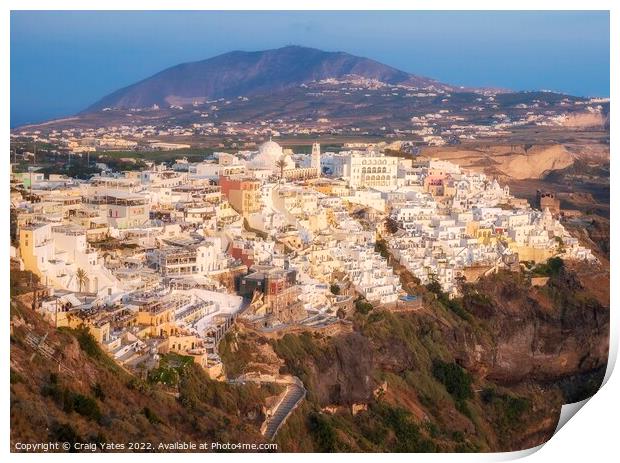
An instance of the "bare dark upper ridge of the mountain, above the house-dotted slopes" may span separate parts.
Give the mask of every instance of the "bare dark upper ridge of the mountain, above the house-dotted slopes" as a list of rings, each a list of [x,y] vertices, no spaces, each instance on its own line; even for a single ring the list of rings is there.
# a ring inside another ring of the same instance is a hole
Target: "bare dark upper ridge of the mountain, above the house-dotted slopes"
[[[233,51],[179,64],[117,90],[87,108],[145,108],[183,105],[216,98],[269,94],[328,78],[356,75],[388,84],[452,87],[377,61],[344,52],[287,46],[266,51]]]

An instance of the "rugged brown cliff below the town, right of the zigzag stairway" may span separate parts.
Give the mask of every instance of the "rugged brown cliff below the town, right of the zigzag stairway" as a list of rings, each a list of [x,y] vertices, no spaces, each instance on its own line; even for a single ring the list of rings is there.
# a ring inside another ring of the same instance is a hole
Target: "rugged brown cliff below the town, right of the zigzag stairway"
[[[277,437],[281,449],[397,451],[408,442],[414,451],[507,451],[544,442],[561,405],[595,393],[604,374],[609,308],[589,289],[591,270],[562,267],[542,287],[499,273],[449,303],[427,293],[418,312],[357,314],[354,333],[270,341],[280,370],[308,389]],[[255,333],[232,340],[248,352],[261,342]],[[269,357],[252,355],[248,368]],[[366,410],[353,415],[354,405]]]

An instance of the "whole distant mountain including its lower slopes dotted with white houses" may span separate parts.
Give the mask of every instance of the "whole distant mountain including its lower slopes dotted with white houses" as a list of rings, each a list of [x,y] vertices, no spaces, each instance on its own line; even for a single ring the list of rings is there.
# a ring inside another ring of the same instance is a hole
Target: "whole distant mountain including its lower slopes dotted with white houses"
[[[422,118],[418,122],[424,125],[429,123],[426,115],[439,114],[430,123],[433,133],[454,139],[455,120],[472,128],[474,136],[479,135],[475,127],[495,126],[498,117],[519,127],[558,120],[571,127],[604,125],[609,103],[592,114],[585,111],[588,101],[544,91],[451,86],[344,52],[287,46],[179,64],[119,89],[79,114],[18,129],[207,124],[215,132],[203,127],[196,134],[211,136],[232,134],[230,127],[218,132],[220,124],[268,121],[272,130],[294,136],[313,131],[393,137],[411,134],[413,117]],[[291,123],[303,127],[292,129]],[[244,130],[235,134],[244,136]]]

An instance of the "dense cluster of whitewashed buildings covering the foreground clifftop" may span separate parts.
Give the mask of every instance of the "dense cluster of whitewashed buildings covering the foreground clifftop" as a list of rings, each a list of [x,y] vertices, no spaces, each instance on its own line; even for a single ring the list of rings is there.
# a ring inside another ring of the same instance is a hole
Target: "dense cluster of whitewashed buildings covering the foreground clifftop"
[[[86,327],[136,372],[174,352],[222,377],[218,342],[238,318],[266,334],[329,331],[358,304],[398,308],[415,295],[395,264],[454,296],[520,262],[595,259],[553,202],[533,209],[484,174],[374,145],[300,154],[269,140],[97,166],[89,180],[12,174],[12,258],[38,277],[33,304],[51,324]]]

